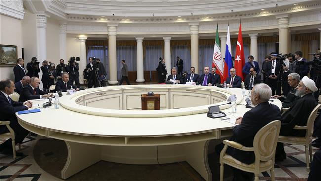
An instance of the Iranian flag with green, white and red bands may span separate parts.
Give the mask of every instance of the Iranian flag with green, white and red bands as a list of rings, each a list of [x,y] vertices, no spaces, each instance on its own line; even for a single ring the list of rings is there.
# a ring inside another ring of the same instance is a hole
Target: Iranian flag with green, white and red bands
[[[225,81],[225,79],[224,79],[224,62],[222,60],[220,39],[218,38],[218,24],[216,25],[216,37],[215,37],[212,67],[216,67],[216,73],[221,76],[221,78],[222,78],[221,81],[222,82]]]

